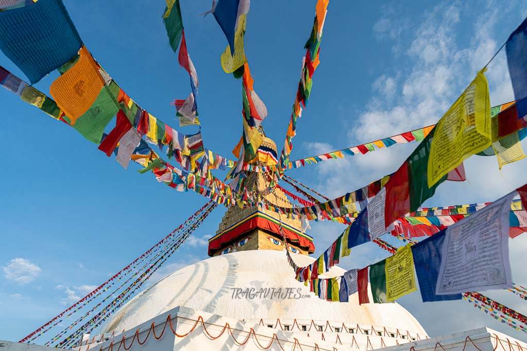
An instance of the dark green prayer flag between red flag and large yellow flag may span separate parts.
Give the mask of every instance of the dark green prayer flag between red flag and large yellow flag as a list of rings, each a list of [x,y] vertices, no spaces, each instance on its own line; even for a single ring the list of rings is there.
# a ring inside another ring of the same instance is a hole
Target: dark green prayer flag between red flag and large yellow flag
[[[428,156],[430,156],[434,131],[435,128],[417,145],[414,152],[407,158],[410,210],[412,212],[421,206],[426,199],[431,198],[437,186],[443,183],[447,177],[445,174],[431,188],[428,187]]]

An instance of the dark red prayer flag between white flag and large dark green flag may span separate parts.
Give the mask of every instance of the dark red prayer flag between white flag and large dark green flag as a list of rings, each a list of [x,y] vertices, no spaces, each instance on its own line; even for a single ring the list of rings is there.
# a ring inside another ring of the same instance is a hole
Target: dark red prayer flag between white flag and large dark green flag
[[[408,185],[408,163],[405,161],[386,183],[386,206],[384,223],[386,228],[410,212],[410,190]]]

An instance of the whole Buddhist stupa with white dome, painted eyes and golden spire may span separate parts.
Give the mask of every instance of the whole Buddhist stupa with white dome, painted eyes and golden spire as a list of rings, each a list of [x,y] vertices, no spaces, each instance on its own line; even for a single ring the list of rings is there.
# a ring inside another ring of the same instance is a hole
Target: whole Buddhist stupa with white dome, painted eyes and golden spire
[[[261,131],[263,134],[263,131]],[[276,144],[264,136],[253,164],[277,163]],[[246,186],[260,192],[268,180],[251,173]],[[266,199],[292,206],[279,188]],[[280,226],[284,234],[280,234]],[[283,242],[287,240],[287,246]],[[121,307],[99,335],[83,335],[77,351],[344,350],[523,351],[527,345],[487,328],[428,338],[397,303],[362,304],[319,299],[295,279],[285,249],[298,265],[315,258],[313,238],[300,220],[261,207],[230,207],[209,240],[212,256],[165,276]],[[340,276],[333,266],[321,278]],[[373,298],[370,296],[370,301]],[[470,343],[469,343],[470,339]],[[51,351],[45,346],[2,342],[7,351]],[[523,349],[522,349],[523,348]]]

